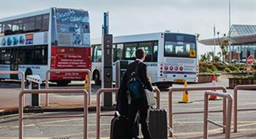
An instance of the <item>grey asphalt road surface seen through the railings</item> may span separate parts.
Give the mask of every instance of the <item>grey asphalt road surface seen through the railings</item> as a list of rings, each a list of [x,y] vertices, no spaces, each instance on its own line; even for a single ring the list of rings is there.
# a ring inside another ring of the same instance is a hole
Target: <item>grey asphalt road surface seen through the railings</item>
[[[13,85],[13,84],[10,84]],[[189,87],[209,86],[208,84],[188,84]],[[217,85],[227,86],[227,79],[217,82]],[[175,87],[182,86],[174,84]],[[95,100],[95,91],[100,88],[93,86],[92,99]],[[233,90],[228,90],[233,94]],[[69,102],[69,100],[80,103],[81,95],[56,95],[61,101]],[[54,97],[53,97],[54,98]],[[173,111],[203,111],[203,91],[189,92],[189,98],[193,103],[178,103],[182,98],[180,92],[173,94]],[[256,108],[256,94],[252,90],[241,90],[238,93],[238,109]],[[60,101],[58,100],[58,101]],[[161,93],[161,107],[167,110],[167,91]],[[209,110],[220,110],[222,101],[210,101]],[[113,111],[105,111],[105,113],[113,114]],[[44,113],[44,115],[66,115],[66,114],[82,114],[79,111]],[[26,114],[41,115],[41,114]],[[232,133],[232,138],[256,138],[256,111],[239,111],[238,112],[238,133]],[[101,137],[109,138],[110,120],[113,117],[101,118]],[[174,132],[176,138],[202,138],[203,135],[203,114],[180,114],[174,115]],[[209,114],[209,119],[222,123],[221,113]],[[233,124],[232,124],[233,125]],[[224,138],[221,128],[209,124],[210,138]],[[214,135],[214,136],[212,136]],[[89,138],[96,136],[96,114],[95,111],[89,112]],[[18,116],[9,115],[0,117],[0,139],[17,138],[18,137]],[[26,119],[24,121],[24,137],[26,138],[82,138],[83,137],[83,118],[75,119]]]

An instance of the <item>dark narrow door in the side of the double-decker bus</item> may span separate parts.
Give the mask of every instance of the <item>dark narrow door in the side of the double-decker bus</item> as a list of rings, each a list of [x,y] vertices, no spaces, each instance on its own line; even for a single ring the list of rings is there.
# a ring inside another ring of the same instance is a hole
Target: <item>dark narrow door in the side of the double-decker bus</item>
[[[18,71],[18,48],[11,49],[10,71]],[[10,79],[18,79],[18,74],[10,74]]]

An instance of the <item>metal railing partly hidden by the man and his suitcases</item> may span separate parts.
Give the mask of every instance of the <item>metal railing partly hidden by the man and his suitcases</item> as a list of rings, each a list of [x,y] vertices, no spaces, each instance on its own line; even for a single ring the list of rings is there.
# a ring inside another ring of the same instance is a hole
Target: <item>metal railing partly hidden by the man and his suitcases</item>
[[[157,87],[155,87],[155,92],[157,93],[157,108],[160,107],[160,91]],[[97,92],[96,92],[96,95],[97,95],[97,98],[96,98],[96,101],[97,101],[97,106],[96,106],[96,138],[99,139],[100,138],[100,117],[101,116],[114,116],[114,114],[101,114],[100,113],[100,95],[102,93],[112,93],[112,92],[115,92],[117,93],[118,92],[118,88],[102,88],[102,89],[99,89]]]

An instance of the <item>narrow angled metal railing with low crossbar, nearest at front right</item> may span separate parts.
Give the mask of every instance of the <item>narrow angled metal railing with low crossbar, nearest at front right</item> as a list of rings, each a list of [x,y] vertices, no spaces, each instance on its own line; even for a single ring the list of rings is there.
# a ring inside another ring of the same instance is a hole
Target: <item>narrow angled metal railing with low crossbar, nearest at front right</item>
[[[217,122],[213,122],[208,119],[208,95],[217,95],[219,97],[222,97],[223,99],[227,98],[227,116],[226,116],[226,123],[225,124],[219,124]],[[205,98],[204,98],[204,119],[203,119],[203,138],[208,138],[208,122],[214,125],[217,125],[218,127],[225,128],[225,139],[230,138],[230,126],[231,126],[231,116],[232,116],[232,103],[233,103],[233,97],[230,94],[223,93],[223,92],[214,92],[214,91],[206,91],[205,92]]]

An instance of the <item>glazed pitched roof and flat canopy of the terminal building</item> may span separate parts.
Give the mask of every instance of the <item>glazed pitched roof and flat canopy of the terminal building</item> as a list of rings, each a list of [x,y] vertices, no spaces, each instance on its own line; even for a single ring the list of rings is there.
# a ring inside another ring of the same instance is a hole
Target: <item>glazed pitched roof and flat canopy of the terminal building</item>
[[[231,44],[254,44],[256,43],[256,25],[232,25],[230,28]],[[219,45],[222,44],[222,39],[227,37],[221,37],[217,39],[202,39],[200,43],[205,45]]]

